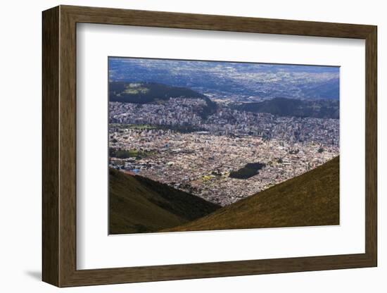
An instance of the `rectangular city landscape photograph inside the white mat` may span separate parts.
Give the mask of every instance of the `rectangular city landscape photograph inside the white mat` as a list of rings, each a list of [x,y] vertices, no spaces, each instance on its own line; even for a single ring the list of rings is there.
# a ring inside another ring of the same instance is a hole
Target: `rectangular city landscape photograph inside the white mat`
[[[339,66],[109,56],[109,234],[339,225],[339,106]]]

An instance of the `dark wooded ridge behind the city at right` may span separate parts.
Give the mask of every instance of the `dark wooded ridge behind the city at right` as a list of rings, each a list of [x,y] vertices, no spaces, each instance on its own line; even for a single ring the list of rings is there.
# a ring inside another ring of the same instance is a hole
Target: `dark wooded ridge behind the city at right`
[[[235,105],[239,111],[271,113],[278,116],[311,118],[339,118],[338,100],[299,100],[274,98],[256,103]]]

